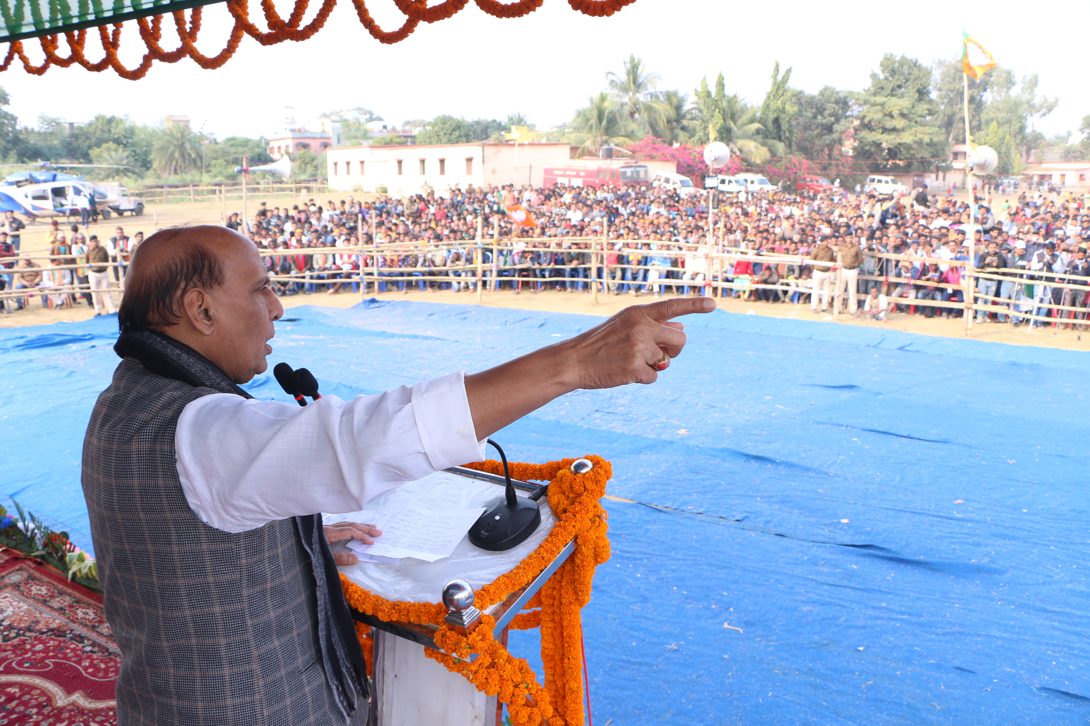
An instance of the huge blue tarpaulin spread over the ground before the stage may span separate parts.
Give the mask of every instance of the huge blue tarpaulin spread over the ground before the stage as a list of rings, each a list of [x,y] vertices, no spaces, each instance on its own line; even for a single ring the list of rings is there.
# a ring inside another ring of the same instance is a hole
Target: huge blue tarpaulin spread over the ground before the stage
[[[270,362],[346,397],[598,320],[292,308]],[[516,460],[600,454],[608,493],[629,500],[606,502],[614,555],[584,611],[597,724],[1090,721],[1087,354],[685,322],[689,346],[655,385],[578,391],[494,436]],[[116,324],[0,331],[3,494],[84,546],[81,446]],[[284,398],[271,374],[246,387]],[[540,667],[533,633],[511,647]]]

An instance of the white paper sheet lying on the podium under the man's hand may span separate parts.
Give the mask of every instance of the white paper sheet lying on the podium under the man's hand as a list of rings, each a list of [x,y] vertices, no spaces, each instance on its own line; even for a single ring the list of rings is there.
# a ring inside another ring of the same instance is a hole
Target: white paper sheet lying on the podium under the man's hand
[[[361,555],[374,557],[415,557],[425,562],[435,562],[450,556],[482,514],[484,514],[484,507],[472,509],[408,508],[387,512],[375,522],[375,527],[383,530],[383,533],[375,538],[374,544],[350,540],[348,547]]]

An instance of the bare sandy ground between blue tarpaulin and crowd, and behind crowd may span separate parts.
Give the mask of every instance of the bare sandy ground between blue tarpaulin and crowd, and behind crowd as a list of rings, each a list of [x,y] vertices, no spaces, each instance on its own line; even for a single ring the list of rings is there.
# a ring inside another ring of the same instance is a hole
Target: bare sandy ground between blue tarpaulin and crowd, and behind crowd
[[[346,196],[344,193],[335,193]],[[313,195],[315,198],[332,196],[328,194]],[[338,196],[338,199],[340,197]],[[257,205],[267,200],[269,207],[284,204],[295,204],[290,197],[254,197],[250,201],[251,209],[256,209]],[[241,211],[241,204],[232,200],[228,212]],[[143,231],[145,235],[152,234],[156,229],[181,223],[208,223],[219,224],[222,212],[221,206],[214,201],[208,202],[183,202],[155,205],[148,208],[143,217],[120,219],[113,218],[109,221],[100,220],[98,224],[90,226],[90,233],[106,238],[113,235],[116,226],[124,227],[125,234],[133,234]],[[62,226],[65,226],[62,223]],[[28,224],[23,233],[22,250],[40,251],[46,247],[46,230],[48,223]],[[71,235],[70,235],[71,236]],[[391,285],[392,286],[392,285]],[[368,297],[372,297],[370,294]],[[476,304],[476,294],[468,292],[410,292],[396,293],[387,292],[378,295],[379,299],[400,299],[428,303],[443,303],[453,305]],[[337,295],[318,293],[314,295],[292,295],[281,298],[286,308],[298,305],[322,305],[327,307],[346,308],[355,305],[362,299],[359,293],[341,292]],[[598,305],[591,303],[588,293],[557,293],[543,291],[536,295],[528,291],[522,294],[514,294],[510,291],[486,292],[482,305],[489,307],[522,308],[528,310],[543,310],[547,312],[576,312],[582,315],[610,316],[629,305],[651,302],[650,295],[639,297],[632,295],[598,295]],[[806,305],[790,305],[787,303],[742,303],[736,299],[717,299],[722,309],[730,312],[747,313],[752,310],[755,315],[771,316],[776,318],[792,318],[799,320],[823,321],[829,317],[828,313],[812,313]],[[86,320],[94,315],[94,310],[81,304],[72,309],[64,310],[43,310],[38,300],[32,302],[29,310],[22,310],[12,315],[0,316],[0,328],[13,328],[20,325],[40,325],[58,321]],[[946,337],[962,337],[964,324],[960,319],[942,320],[933,318],[928,320],[923,316],[894,315],[888,322],[874,322],[851,318],[848,315],[839,316],[839,324],[847,325],[871,325],[887,330],[898,330],[909,333],[920,333],[924,335],[942,335]],[[834,324],[829,322],[828,324]],[[1077,331],[1057,330],[1054,328],[1037,329],[1030,331],[1024,324],[1020,328],[1013,328],[1009,324],[985,323],[973,325],[972,339],[978,341],[989,341],[993,343],[1012,343],[1015,345],[1040,345],[1044,347],[1058,347],[1073,350],[1090,350],[1090,334],[1086,339]]]

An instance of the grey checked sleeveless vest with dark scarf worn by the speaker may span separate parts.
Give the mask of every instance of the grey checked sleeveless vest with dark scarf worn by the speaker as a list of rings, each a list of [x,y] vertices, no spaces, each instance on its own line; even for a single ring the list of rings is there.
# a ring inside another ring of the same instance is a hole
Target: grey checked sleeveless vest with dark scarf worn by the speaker
[[[166,336],[125,334],[116,349],[126,357],[87,427],[83,490],[121,649],[119,724],[341,726],[358,706],[362,716],[362,654],[320,515],[233,534],[197,519],[182,492],[182,409],[249,395]]]

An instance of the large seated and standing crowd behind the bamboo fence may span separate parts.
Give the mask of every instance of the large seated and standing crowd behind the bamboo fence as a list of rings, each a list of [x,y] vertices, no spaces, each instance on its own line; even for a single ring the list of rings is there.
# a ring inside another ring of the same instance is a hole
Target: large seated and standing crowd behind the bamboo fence
[[[657,297],[698,294],[714,282],[724,286],[717,294],[809,305],[814,312],[836,304],[879,320],[895,311],[946,318],[966,313],[950,304],[966,302],[964,263],[971,246],[977,272],[1008,278],[977,279],[976,307],[1001,308],[978,309],[977,322],[1009,317],[1017,325],[1027,315],[1064,324],[1086,319],[1087,291],[1033,274],[1090,276],[1090,213],[1081,197],[1022,193],[994,206],[985,197],[976,225],[967,201],[923,189],[898,198],[839,188],[773,192],[716,202],[710,217],[707,195],[647,186],[456,185],[409,199],[262,202],[252,219],[234,213],[225,223],[263,251],[279,295],[359,292],[360,284],[375,282],[378,292],[472,291],[480,266],[486,288],[516,293],[585,293],[593,284],[603,294]],[[516,206],[529,212],[524,225],[508,212]],[[111,311],[102,263],[116,262],[114,281],[122,283],[142,235],[130,238],[118,227],[100,242],[73,225],[66,238],[56,222],[50,235],[52,255],[71,255],[61,260],[81,267],[51,273],[20,259],[10,284],[49,288],[44,305],[83,297],[96,312]],[[0,256],[10,248],[0,232]],[[80,293],[65,298],[60,291],[73,285],[82,285]],[[15,308],[21,305],[16,300]]]

